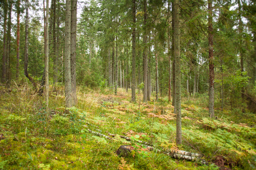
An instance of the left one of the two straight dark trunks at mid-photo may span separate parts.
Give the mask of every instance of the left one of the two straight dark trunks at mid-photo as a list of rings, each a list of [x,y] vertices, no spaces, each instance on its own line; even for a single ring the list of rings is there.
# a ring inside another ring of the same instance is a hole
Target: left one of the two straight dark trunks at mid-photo
[[[136,0],[133,0],[133,61],[132,61],[132,67],[133,67],[133,71],[132,71],[132,82],[131,82],[131,101],[136,101],[136,94],[135,94],[135,83],[136,83],[136,78],[135,78],[135,26],[136,26]]]

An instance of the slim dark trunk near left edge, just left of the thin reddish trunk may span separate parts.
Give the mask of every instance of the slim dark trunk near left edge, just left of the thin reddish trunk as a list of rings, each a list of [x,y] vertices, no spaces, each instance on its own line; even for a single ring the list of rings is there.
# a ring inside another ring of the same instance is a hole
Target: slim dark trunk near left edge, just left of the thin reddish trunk
[[[7,31],[7,50],[6,50],[6,78],[7,78],[7,86],[10,84],[11,80],[11,70],[10,70],[10,54],[11,54],[11,7],[13,3],[9,2],[9,10],[8,10],[8,31]]]

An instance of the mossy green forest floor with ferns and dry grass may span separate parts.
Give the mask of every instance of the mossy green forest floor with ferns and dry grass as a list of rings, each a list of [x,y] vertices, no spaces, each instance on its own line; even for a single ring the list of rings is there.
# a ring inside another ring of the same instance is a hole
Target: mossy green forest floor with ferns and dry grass
[[[51,87],[47,116],[43,96],[34,94],[27,84],[9,89],[0,86],[0,169],[256,167],[253,113],[216,109],[217,120],[210,119],[206,95],[183,97],[183,145],[177,146],[174,107],[167,97],[142,103],[141,93],[134,104],[130,103],[130,92],[122,88],[113,95],[108,90],[79,86],[77,98],[77,106],[65,111],[64,87]],[[160,151],[148,150],[138,140]],[[121,145],[131,145],[134,151],[119,157],[115,151]],[[164,152],[167,149],[203,154],[209,164],[172,158]]]

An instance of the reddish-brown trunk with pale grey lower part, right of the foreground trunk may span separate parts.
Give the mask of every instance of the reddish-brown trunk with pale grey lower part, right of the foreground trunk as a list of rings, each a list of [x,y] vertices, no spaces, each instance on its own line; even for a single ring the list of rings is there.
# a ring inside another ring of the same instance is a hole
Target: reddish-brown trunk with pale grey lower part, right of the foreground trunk
[[[209,116],[214,117],[214,64],[213,64],[213,25],[212,0],[208,0],[208,41],[209,41]]]

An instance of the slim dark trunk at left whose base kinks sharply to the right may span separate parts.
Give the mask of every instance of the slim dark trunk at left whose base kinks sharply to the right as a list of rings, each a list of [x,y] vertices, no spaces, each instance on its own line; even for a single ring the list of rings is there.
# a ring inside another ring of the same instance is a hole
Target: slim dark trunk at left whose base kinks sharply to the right
[[[30,80],[33,87],[36,88],[35,80],[28,74],[28,0],[26,0],[26,21],[25,21],[25,57],[24,57],[24,74]]]

